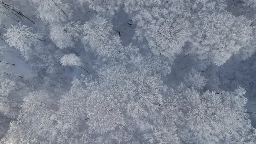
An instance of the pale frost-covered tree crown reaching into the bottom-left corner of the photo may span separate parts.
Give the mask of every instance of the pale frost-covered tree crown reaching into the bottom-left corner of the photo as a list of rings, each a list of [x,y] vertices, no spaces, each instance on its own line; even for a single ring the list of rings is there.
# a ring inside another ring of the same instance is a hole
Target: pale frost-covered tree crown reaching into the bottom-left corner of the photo
[[[3,144],[26,144],[43,142],[49,137],[49,129],[53,123],[52,106],[49,95],[44,92],[30,92],[23,99],[17,121],[10,124],[8,137]],[[48,110],[47,110],[48,109]]]

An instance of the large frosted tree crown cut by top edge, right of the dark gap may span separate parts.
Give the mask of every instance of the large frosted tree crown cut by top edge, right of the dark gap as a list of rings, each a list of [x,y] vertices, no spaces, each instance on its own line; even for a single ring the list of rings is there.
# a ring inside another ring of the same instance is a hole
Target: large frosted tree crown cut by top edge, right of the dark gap
[[[135,11],[135,38],[139,41],[146,39],[154,55],[171,58],[182,52],[190,36],[189,13],[185,11],[183,1],[131,0],[125,4],[126,11]]]

